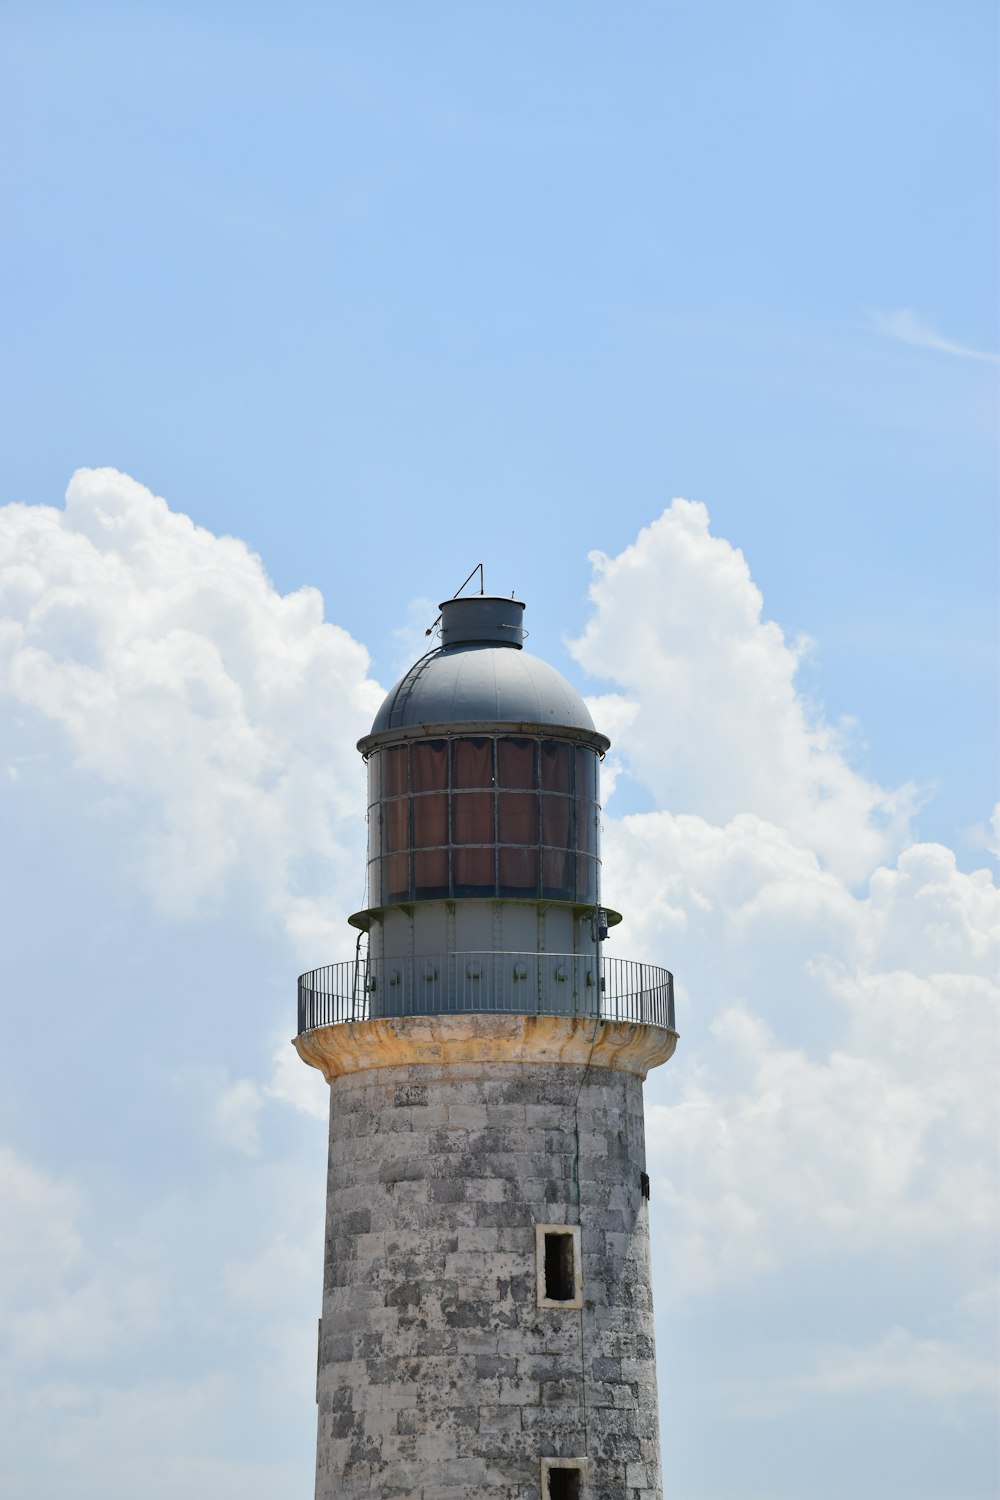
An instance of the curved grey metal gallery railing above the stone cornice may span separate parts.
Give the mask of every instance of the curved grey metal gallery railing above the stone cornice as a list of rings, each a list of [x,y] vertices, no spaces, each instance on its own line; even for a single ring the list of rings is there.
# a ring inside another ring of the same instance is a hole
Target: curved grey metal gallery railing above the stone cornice
[[[448,952],[327,963],[298,980],[298,1032],[385,1016],[597,1016],[673,1024],[673,975],[573,952]]]

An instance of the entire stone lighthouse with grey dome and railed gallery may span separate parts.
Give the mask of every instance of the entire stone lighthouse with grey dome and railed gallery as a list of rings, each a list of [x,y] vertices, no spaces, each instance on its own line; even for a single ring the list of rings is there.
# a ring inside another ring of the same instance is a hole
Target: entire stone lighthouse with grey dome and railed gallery
[[[355,957],[298,980],[330,1084],[316,1500],[661,1500],[642,1084],[673,980],[606,950],[609,741],[523,610],[441,604],[358,742]]]

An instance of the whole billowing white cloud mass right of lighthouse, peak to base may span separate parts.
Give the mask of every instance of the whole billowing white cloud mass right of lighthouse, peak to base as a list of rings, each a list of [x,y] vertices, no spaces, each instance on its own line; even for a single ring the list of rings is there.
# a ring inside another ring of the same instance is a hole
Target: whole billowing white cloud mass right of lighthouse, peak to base
[[[957,1305],[996,1250],[993,876],[913,843],[912,790],[852,766],[798,692],[802,646],[763,620],[705,507],[675,501],[594,564],[573,650],[609,682],[594,711],[657,804],[604,814],[612,951],[678,982],[681,1047],[646,1107],[670,1298],[919,1263],[934,1336],[873,1329],[799,1384],[972,1396],[996,1316]]]

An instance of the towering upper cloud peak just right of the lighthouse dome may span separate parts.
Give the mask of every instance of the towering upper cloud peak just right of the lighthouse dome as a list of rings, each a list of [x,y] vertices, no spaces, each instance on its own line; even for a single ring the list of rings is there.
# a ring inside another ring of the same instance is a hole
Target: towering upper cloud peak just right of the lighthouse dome
[[[805,644],[763,618],[747,560],[711,534],[705,506],[675,500],[633,546],[591,561],[592,615],[571,651],[613,684],[594,712],[625,726],[618,753],[658,807],[717,825],[756,814],[853,880],[901,846],[913,789],[861,776],[810,711]]]

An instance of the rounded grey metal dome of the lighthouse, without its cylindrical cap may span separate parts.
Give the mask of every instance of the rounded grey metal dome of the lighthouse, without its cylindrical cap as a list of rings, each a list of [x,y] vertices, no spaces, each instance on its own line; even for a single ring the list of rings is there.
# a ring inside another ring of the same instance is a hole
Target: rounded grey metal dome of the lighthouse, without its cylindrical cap
[[[547,662],[499,645],[445,646],[411,666],[372,735],[421,724],[540,724],[595,735],[580,694]]]

